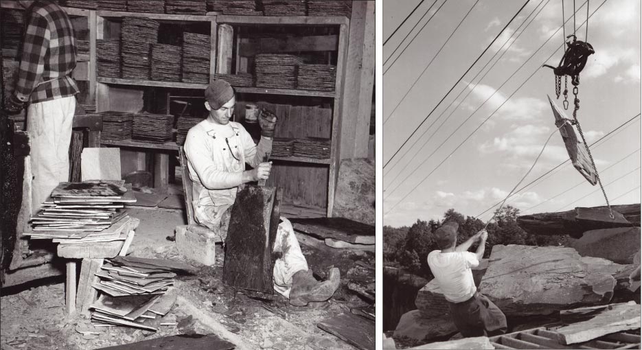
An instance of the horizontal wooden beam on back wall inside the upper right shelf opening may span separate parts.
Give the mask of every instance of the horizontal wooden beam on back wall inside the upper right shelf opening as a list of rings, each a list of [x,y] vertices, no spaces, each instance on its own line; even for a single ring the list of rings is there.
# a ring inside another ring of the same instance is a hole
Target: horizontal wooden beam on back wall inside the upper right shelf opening
[[[247,38],[240,43],[238,54],[240,56],[254,56],[262,52],[336,51],[338,44],[339,38],[336,35]]]

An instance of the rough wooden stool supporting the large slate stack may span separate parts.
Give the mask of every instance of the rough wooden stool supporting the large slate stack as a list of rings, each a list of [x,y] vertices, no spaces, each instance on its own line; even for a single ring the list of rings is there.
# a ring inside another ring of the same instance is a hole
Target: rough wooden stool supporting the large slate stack
[[[65,283],[65,310],[71,315],[77,309],[82,314],[89,314],[89,306],[98,296],[97,290],[92,287],[99,279],[95,275],[102,266],[104,259],[111,259],[117,255],[124,256],[134,239],[134,230],[140,220],[125,218],[109,226],[105,232],[127,233],[124,241],[113,242],[85,242],[76,244],[58,244],[58,256],[71,259],[67,261],[67,281]],[[80,280],[76,288],[76,264],[82,259],[80,266]],[[78,290],[78,293],[76,291]]]

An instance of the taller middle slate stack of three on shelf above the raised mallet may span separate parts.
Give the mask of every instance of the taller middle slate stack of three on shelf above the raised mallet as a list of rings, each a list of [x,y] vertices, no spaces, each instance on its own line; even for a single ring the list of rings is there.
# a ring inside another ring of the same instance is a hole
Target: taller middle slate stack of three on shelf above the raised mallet
[[[256,86],[274,89],[295,89],[297,66],[303,60],[286,54],[257,54],[254,56]]]

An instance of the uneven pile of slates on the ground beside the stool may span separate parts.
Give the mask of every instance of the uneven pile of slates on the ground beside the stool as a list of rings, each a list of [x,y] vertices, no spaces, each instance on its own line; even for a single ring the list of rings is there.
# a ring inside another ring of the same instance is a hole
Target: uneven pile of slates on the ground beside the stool
[[[190,265],[167,259],[115,257],[101,267],[93,287],[102,294],[91,305],[95,326],[122,325],[157,331],[176,302],[176,273],[193,273]]]

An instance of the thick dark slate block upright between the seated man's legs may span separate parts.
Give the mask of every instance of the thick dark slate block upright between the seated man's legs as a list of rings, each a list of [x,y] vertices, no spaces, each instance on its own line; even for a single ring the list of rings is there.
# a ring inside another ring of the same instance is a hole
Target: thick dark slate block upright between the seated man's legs
[[[223,283],[272,294],[275,187],[241,185],[231,209]],[[278,211],[278,206],[277,206]],[[278,218],[278,215],[277,215]],[[271,239],[272,238],[272,239]]]

